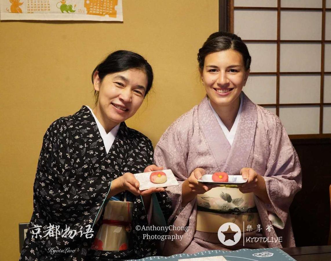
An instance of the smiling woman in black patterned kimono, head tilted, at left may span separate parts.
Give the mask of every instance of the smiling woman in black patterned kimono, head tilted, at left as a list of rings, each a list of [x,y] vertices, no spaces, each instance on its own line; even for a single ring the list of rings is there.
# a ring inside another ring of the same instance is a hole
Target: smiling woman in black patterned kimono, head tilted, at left
[[[95,68],[92,82],[95,108],[82,106],[59,118],[44,135],[22,261],[125,260],[157,252],[156,240],[143,234],[162,231],[139,228],[149,226],[148,216],[166,225],[171,203],[164,188],[138,189],[132,173],[162,168],[152,165],[151,141],[124,123],[151,89],[152,68],[139,54],[116,51]],[[100,249],[95,245],[91,249],[107,201],[130,199],[129,245],[121,251],[93,250]]]

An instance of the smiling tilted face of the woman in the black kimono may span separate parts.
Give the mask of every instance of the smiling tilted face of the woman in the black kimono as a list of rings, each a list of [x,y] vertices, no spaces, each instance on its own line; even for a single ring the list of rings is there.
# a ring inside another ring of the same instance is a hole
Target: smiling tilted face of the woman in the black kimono
[[[139,69],[107,74],[102,81],[95,74],[93,85],[99,97],[93,112],[106,132],[136,113],[147,84],[146,74]]]

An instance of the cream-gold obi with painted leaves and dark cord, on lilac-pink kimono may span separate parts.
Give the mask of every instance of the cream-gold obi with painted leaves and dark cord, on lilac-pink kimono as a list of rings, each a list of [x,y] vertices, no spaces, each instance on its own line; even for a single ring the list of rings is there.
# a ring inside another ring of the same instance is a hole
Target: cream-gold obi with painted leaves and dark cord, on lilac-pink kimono
[[[231,187],[230,187],[231,186]],[[233,185],[212,188],[197,195],[197,231],[217,233],[219,227],[227,222],[240,229],[251,225],[254,229],[261,224],[254,201],[254,193],[241,193]]]

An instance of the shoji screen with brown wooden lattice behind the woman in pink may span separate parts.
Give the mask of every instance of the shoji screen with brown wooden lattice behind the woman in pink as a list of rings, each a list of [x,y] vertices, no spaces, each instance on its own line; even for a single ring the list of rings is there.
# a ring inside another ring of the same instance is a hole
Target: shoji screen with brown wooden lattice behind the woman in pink
[[[291,138],[331,137],[331,0],[231,0],[230,18],[252,56],[248,97]]]

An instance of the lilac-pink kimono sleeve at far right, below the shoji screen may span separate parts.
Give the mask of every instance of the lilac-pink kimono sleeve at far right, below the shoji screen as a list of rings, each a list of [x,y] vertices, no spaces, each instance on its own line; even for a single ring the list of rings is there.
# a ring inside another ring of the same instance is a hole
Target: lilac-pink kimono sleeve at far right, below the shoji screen
[[[266,207],[277,215],[278,222],[273,214],[269,215],[269,219],[274,220],[276,227],[283,229],[293,198],[301,189],[302,176],[298,155],[278,117],[275,118],[269,146],[270,156],[263,178],[271,206],[267,204]]]

